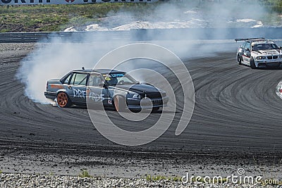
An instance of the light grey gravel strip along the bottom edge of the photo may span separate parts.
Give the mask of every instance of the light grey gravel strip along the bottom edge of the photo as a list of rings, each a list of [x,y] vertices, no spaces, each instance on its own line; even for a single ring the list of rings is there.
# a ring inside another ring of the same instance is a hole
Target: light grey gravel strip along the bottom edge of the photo
[[[193,183],[185,184],[180,181],[156,180],[148,181],[145,179],[124,179],[108,177],[73,177],[60,175],[27,175],[27,174],[1,174],[1,187],[279,187],[279,186],[262,186],[258,184],[205,184]],[[282,187],[282,186],[280,186]]]

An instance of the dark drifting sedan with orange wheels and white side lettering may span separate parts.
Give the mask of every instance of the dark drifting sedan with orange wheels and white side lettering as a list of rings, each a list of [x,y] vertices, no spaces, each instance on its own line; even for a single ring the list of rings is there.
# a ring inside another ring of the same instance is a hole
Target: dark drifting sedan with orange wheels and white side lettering
[[[163,90],[137,82],[125,72],[108,69],[82,68],[71,71],[61,79],[48,80],[44,95],[56,101],[61,108],[73,104],[87,105],[87,99],[94,104],[102,102],[104,107],[114,107],[116,111],[124,111],[125,108],[157,111],[168,103],[168,96]],[[141,105],[141,101],[145,103]]]

